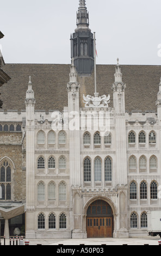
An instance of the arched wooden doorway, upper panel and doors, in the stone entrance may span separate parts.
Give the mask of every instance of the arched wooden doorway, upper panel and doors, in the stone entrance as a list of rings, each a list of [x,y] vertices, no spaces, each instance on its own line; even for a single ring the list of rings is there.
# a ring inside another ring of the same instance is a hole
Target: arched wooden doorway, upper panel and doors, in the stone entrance
[[[92,202],[86,212],[87,237],[113,237],[113,210],[104,200]]]

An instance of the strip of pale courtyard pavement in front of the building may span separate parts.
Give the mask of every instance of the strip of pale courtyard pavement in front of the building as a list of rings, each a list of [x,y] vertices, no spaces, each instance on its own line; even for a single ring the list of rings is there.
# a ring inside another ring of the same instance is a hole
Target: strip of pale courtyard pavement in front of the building
[[[26,241],[27,239],[23,239]],[[77,246],[77,245],[87,245],[87,246],[100,246],[100,245],[159,245],[159,236],[156,237],[144,237],[144,238],[128,238],[128,239],[115,239],[115,238],[88,238],[88,239],[30,239],[29,245],[64,245],[64,246]],[[4,245],[4,240],[1,239],[2,245]],[[9,245],[10,240],[5,240],[5,245]],[[13,245],[13,239],[11,240],[11,245]],[[16,239],[14,241],[16,245]],[[18,243],[19,245],[19,243]]]

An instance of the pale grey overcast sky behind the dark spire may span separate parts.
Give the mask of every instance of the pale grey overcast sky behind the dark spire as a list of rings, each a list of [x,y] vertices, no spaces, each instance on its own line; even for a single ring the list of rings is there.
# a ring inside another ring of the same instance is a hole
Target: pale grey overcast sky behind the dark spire
[[[79,0],[0,1],[5,63],[70,63]],[[120,64],[161,65],[160,0],[86,0],[86,7],[97,64],[119,57]]]

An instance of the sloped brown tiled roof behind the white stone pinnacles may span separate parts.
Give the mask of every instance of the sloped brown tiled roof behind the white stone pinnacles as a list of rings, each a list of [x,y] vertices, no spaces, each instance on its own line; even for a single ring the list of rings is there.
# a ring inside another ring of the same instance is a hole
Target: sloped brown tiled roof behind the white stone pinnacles
[[[66,64],[6,64],[4,71],[11,80],[1,89],[3,109],[23,110],[29,81],[32,76],[35,110],[59,110],[67,106],[66,84],[70,65]],[[122,81],[126,83],[126,111],[156,111],[161,66],[122,65]],[[109,107],[113,107],[115,65],[97,65],[97,92],[110,94]],[[94,72],[91,76],[77,77],[80,83],[80,107],[84,107],[83,94],[94,95]]]

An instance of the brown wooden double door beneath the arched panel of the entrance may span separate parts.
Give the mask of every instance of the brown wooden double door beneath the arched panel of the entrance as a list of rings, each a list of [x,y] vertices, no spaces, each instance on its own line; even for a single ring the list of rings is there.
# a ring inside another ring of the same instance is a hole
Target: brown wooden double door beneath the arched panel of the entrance
[[[112,217],[87,217],[86,218],[87,237],[112,237],[113,220]]]

